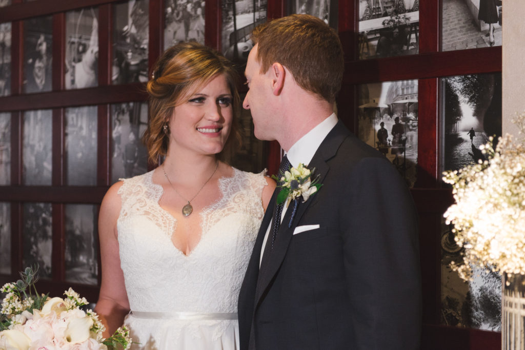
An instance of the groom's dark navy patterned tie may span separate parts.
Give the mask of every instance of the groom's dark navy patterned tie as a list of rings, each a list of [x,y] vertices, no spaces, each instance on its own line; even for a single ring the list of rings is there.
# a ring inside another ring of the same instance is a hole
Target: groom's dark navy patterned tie
[[[281,176],[285,174],[286,171],[290,170],[290,167],[291,167],[291,164],[288,161],[288,158],[286,157],[286,155],[283,156],[281,160],[281,165],[279,165],[279,173],[277,174],[279,177],[277,186],[281,186],[283,184],[283,182],[280,181],[280,178]],[[279,188],[277,188],[276,190],[277,190],[277,193],[280,192]],[[257,306],[257,299],[259,299],[259,295],[261,292],[260,289],[262,287],[262,281],[265,278],[266,268],[268,267],[268,262],[270,261],[271,250],[274,249],[275,238],[277,237],[277,231],[279,230],[279,225],[281,224],[281,214],[282,214],[283,207],[284,207],[284,203],[281,203],[279,205],[276,204],[274,207],[274,215],[272,216],[272,219],[271,219],[271,229],[268,234],[268,238],[266,239],[266,246],[264,247],[264,251],[262,252],[261,266],[259,268],[259,277],[257,278],[257,287],[255,289],[255,299],[254,299],[254,314],[255,314],[255,307]],[[254,322],[255,322],[255,319],[252,317],[248,350],[255,350]]]

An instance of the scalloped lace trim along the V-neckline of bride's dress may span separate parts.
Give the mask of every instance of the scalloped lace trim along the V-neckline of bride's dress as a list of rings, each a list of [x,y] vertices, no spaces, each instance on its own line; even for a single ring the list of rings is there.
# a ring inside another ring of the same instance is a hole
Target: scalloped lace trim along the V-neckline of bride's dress
[[[198,240],[197,244],[195,245],[195,247],[193,247],[193,249],[191,249],[187,253],[184,253],[184,251],[182,251],[180,248],[176,247],[173,244],[172,237],[175,234],[175,231],[177,229],[176,228],[177,219],[169,211],[164,209],[159,203],[159,201],[161,200],[162,196],[164,195],[164,187],[161,184],[156,184],[156,183],[153,182],[153,172],[154,172],[154,170],[152,170],[151,172],[146,174],[146,176],[145,176],[146,184],[151,185],[151,187],[155,189],[154,190],[154,194],[156,196],[154,198],[152,198],[153,204],[156,205],[156,207],[158,207],[158,209],[167,218],[167,220],[169,222],[169,225],[167,225],[167,231],[165,232],[166,236],[170,239],[170,243],[173,246],[173,249],[175,249],[183,257],[186,257],[186,258],[192,257],[194,255],[195,251],[199,248],[199,246],[202,245],[201,243],[202,243],[203,239],[207,236],[206,235],[207,230],[205,229],[205,227],[206,227],[205,224],[209,220],[209,216],[211,214],[211,208],[216,207],[216,206],[220,205],[221,203],[224,203],[224,201],[228,199],[228,198],[226,198],[226,188],[228,187],[228,184],[230,182],[232,182],[233,179],[236,178],[238,176],[239,172],[240,172],[238,169],[236,169],[234,167],[232,167],[232,169],[233,169],[233,175],[232,176],[222,176],[222,177],[219,177],[219,179],[217,181],[217,184],[218,184],[218,187],[219,187],[219,191],[220,191],[220,196],[218,197],[218,199],[213,201],[212,203],[208,204],[207,206],[205,206],[201,210],[201,212],[198,213],[199,217],[201,219],[200,222],[199,222],[199,227],[201,228],[201,235],[200,235],[201,237],[199,238],[199,240]]]

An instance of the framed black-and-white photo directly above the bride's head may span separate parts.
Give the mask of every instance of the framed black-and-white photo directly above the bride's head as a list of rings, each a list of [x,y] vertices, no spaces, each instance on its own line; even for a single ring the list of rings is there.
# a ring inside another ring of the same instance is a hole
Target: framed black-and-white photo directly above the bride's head
[[[195,40],[204,45],[203,0],[166,0],[164,50],[181,41]]]

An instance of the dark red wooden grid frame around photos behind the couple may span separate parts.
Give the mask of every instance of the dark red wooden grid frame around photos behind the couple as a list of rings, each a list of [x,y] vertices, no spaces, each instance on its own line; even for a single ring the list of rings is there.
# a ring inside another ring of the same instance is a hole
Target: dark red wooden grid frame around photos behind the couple
[[[68,287],[96,301],[97,287],[64,282],[64,205],[68,203],[100,204],[110,185],[110,110],[111,103],[145,101],[142,84],[111,85],[112,6],[116,0],[37,0],[13,4],[0,10],[0,22],[12,22],[12,96],[0,98],[0,112],[12,114],[11,185],[0,187],[0,201],[11,204],[12,274],[0,275],[0,283],[17,278],[22,268],[23,222],[22,203],[45,201],[53,205],[53,278],[40,281],[39,288],[59,295]],[[339,35],[346,57],[346,69],[338,100],[339,118],[356,130],[356,101],[359,84],[418,79],[418,173],[412,194],[419,211],[421,266],[423,272],[423,346],[424,349],[494,349],[500,347],[495,332],[439,325],[440,313],[440,218],[451,204],[449,189],[440,188],[439,158],[439,80],[446,76],[468,73],[501,72],[501,47],[440,52],[440,0],[420,1],[419,54],[392,58],[358,60],[357,43],[359,1],[339,0]],[[99,86],[81,90],[64,88],[64,39],[53,41],[53,91],[22,94],[23,20],[53,15],[54,38],[65,36],[65,12],[88,6],[99,8]],[[164,2],[150,0],[149,65],[162,53]],[[285,15],[285,0],[268,0],[268,18]],[[207,0],[205,10],[205,43],[220,48],[220,0]],[[103,30],[106,28],[106,30]],[[65,186],[64,183],[64,107],[98,106],[98,171],[97,186]],[[52,186],[22,186],[22,135],[20,122],[25,110],[53,109],[53,177]],[[58,136],[57,136],[58,135]],[[280,147],[269,144],[267,166],[275,173],[280,160]],[[100,273],[99,273],[100,275]]]

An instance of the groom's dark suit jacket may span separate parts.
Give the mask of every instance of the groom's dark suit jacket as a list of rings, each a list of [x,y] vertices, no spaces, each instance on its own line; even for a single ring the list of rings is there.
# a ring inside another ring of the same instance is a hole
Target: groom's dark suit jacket
[[[421,333],[417,215],[383,154],[338,122],[309,168],[319,192],[282,220],[254,313],[272,197],[239,295],[241,349],[415,350]],[[318,229],[293,235],[298,226]]]

